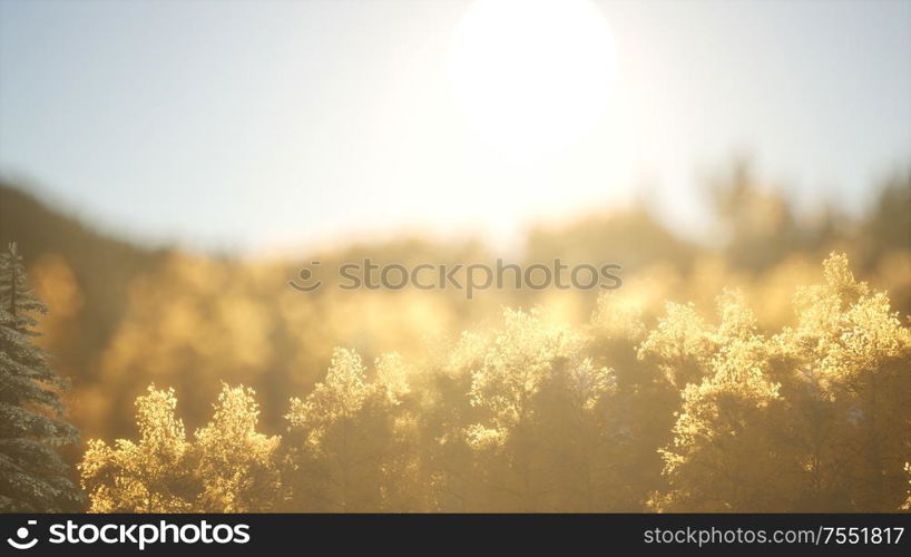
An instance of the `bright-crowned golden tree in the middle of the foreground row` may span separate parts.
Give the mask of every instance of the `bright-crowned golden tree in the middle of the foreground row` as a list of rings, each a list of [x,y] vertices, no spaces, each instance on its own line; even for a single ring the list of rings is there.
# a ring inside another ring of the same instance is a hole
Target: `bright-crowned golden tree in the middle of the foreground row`
[[[582,422],[613,388],[611,371],[585,358],[584,345],[577,332],[547,323],[537,311],[503,312],[502,329],[472,370],[470,402],[484,410],[486,419],[466,430],[469,444],[484,459],[486,481],[498,499],[491,502],[494,509],[537,510],[546,491],[559,489],[554,485],[554,457],[568,438],[545,434],[548,411],[559,404],[567,413],[550,416],[575,420],[571,428],[584,430]],[[585,431],[574,433],[594,442]],[[585,453],[578,458],[584,473],[591,473],[592,460]]]

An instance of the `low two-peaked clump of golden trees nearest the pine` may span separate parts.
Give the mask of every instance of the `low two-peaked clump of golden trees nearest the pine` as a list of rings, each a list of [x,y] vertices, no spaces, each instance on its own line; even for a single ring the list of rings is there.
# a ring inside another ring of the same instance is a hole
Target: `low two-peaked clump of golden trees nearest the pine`
[[[280,489],[278,438],[255,431],[254,392],[223,385],[209,423],[187,439],[173,389],[136,399],[139,440],[89,441],[79,465],[92,512],[266,510]]]

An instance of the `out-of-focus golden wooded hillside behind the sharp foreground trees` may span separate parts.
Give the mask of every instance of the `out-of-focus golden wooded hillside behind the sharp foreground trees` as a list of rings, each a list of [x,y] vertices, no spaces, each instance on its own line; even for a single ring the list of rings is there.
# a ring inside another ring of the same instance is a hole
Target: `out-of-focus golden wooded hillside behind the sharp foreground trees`
[[[529,232],[522,261],[617,263],[624,286],[611,294],[654,320],[664,301],[692,301],[712,311],[726,286],[744,291],[761,324],[792,317],[791,292],[819,273],[832,250],[848,252],[862,277],[911,313],[911,172],[876,186],[860,218],[821,201],[801,215],[780,193],[735,165],[707,185],[723,238],[718,247],[677,237],[647,207],[592,213]],[[209,414],[221,382],[254,387],[266,431],[281,432],[290,394],[308,392],[334,346],[373,359],[411,355],[451,342],[460,331],[500,314],[501,306],[538,305],[545,315],[588,320],[598,292],[488,290],[464,292],[341,291],[340,265],[370,257],[378,264],[492,263],[480,241],[422,238],[364,243],[300,257],[249,260],[150,248],[111,237],[51,208],[12,185],[0,185],[0,242],[17,241],[38,294],[51,313],[42,342],[72,381],[68,405],[86,438],[133,433],[133,400],[149,382],[180,393],[187,424]],[[310,265],[320,261],[319,267]],[[304,294],[287,285],[311,268],[329,286]],[[507,281],[508,283],[508,281]]]

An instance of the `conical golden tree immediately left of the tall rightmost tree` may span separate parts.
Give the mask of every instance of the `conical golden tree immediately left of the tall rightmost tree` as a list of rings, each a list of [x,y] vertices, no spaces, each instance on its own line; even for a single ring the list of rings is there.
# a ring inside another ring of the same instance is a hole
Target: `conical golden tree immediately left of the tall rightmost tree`
[[[708,374],[683,389],[673,442],[662,449],[669,491],[652,500],[658,510],[772,511],[788,492],[786,460],[774,449],[780,385],[770,380],[766,340],[738,294],[721,296],[718,313],[709,334],[717,348],[702,354]]]

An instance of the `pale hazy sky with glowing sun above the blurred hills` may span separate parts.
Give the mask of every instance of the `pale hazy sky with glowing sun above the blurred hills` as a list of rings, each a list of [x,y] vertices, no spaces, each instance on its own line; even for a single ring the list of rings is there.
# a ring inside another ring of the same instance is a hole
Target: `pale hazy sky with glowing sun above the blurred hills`
[[[694,234],[734,155],[848,209],[911,160],[911,2],[528,6],[4,0],[0,173],[105,228],[268,250],[508,243],[646,193]]]

